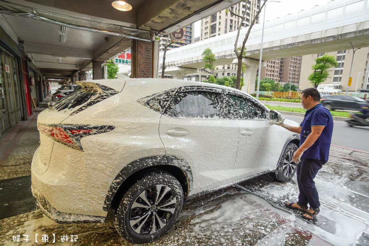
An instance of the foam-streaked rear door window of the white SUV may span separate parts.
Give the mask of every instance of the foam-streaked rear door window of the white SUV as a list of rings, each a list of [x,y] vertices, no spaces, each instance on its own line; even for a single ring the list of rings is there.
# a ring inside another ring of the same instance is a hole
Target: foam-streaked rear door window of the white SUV
[[[170,103],[167,114],[185,118],[222,118],[220,93],[210,91],[184,91]]]

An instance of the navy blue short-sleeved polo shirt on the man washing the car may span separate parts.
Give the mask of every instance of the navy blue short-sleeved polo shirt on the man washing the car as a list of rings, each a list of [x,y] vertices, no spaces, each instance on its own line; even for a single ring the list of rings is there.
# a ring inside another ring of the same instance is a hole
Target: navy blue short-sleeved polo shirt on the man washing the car
[[[319,138],[303,153],[303,157],[315,160],[328,160],[329,149],[333,132],[333,118],[331,112],[323,107],[321,103],[306,110],[304,120],[301,122],[300,146],[311,133],[311,127],[324,125]]]

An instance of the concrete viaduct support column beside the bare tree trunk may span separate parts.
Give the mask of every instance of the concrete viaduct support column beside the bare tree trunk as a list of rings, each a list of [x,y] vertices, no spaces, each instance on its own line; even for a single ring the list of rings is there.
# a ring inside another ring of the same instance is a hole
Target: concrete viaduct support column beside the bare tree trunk
[[[234,59],[232,63],[237,65],[238,60]],[[252,94],[255,91],[256,72],[258,72],[259,69],[259,60],[244,58],[242,59],[242,63],[244,63],[246,67],[246,72],[243,74],[245,85],[242,86],[241,90]],[[266,63],[262,62],[261,66],[265,67]]]

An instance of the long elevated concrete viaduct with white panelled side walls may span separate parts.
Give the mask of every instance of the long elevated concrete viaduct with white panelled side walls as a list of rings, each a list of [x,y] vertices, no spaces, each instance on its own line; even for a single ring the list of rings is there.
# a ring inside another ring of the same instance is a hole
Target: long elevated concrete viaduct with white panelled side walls
[[[241,30],[237,46],[242,44],[247,30]],[[261,32],[262,24],[255,25],[246,42],[243,61],[247,71],[243,76],[246,81],[251,80],[251,88],[255,86],[259,66]],[[206,48],[212,49],[215,65],[237,64],[234,53],[236,36],[237,31],[230,32],[167,51],[165,73],[182,78],[192,73],[192,69],[203,68],[205,63],[201,53]],[[368,0],[336,0],[266,22],[262,60],[351,49],[349,42],[355,48],[369,46]],[[159,61],[162,61],[162,54]],[[243,90],[246,89],[244,87]]]

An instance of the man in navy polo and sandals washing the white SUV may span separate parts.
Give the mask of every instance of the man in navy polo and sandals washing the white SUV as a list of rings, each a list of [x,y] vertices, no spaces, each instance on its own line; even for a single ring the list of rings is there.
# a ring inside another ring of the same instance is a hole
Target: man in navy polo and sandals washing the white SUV
[[[300,126],[290,126],[283,122],[277,124],[300,134],[300,147],[292,157],[293,162],[297,163],[299,201],[286,202],[286,206],[303,212],[303,216],[308,220],[314,219],[320,212],[319,196],[314,178],[328,161],[333,131],[332,115],[319,101],[320,93],[317,89],[303,90],[301,104],[307,111]],[[307,204],[310,205],[309,209]]]

